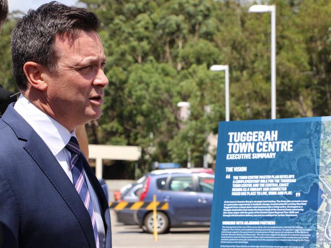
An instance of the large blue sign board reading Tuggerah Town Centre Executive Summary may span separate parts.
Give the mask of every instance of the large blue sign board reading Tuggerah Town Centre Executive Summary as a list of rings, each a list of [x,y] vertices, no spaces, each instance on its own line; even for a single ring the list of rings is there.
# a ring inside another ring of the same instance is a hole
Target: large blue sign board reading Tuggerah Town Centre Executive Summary
[[[331,118],[219,122],[209,248],[331,243]]]

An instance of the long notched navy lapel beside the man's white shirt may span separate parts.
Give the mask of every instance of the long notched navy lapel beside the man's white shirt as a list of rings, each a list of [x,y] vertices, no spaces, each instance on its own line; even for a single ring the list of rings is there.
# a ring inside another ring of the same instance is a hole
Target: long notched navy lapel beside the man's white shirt
[[[81,201],[74,185],[39,135],[12,106],[8,108],[3,115],[3,120],[12,128],[19,139],[26,140],[24,149],[30,154],[76,216],[90,247],[95,247],[89,212]]]

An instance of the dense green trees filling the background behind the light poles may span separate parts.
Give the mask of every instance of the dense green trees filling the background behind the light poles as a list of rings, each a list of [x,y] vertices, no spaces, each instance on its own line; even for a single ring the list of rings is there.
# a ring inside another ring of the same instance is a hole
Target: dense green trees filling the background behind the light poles
[[[214,64],[230,67],[232,120],[270,118],[269,13],[247,13],[248,1],[235,0],[80,2],[102,21],[109,78],[103,116],[89,124],[90,142],[142,146],[144,164],[185,165],[189,151],[201,166],[206,134],[225,119],[224,73],[209,71]],[[277,6],[277,117],[328,115],[331,2],[266,3]],[[11,89],[12,25],[0,39],[0,75]],[[191,105],[185,123],[180,101]]]

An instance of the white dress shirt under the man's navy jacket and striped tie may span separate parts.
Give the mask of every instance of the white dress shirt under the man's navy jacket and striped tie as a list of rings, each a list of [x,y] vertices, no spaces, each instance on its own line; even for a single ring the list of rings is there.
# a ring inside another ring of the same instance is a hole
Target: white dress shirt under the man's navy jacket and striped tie
[[[26,120],[27,123],[29,123],[29,125],[45,142],[49,150],[53,153],[54,157],[58,160],[64,172],[69,177],[70,181],[73,183],[72,173],[69,166],[71,160],[71,153],[65,148],[65,146],[69,142],[71,136],[75,136],[75,132],[72,131],[70,133],[58,121],[39,110],[23,95],[21,95],[15,103],[14,109],[19,115],[23,117],[23,119]],[[91,200],[93,203],[93,209],[99,234],[100,247],[104,247],[105,230],[101,217],[99,201],[87,176],[85,176],[85,180],[88,184]]]

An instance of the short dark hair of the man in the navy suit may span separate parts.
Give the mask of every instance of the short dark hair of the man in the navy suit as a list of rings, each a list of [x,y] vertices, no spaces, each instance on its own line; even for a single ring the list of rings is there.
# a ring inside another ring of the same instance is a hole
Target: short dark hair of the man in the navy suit
[[[13,77],[17,86],[26,89],[23,66],[27,61],[56,71],[58,55],[54,40],[58,36],[73,39],[80,30],[97,32],[99,27],[99,18],[93,12],[55,1],[29,10],[16,22],[12,32]]]

